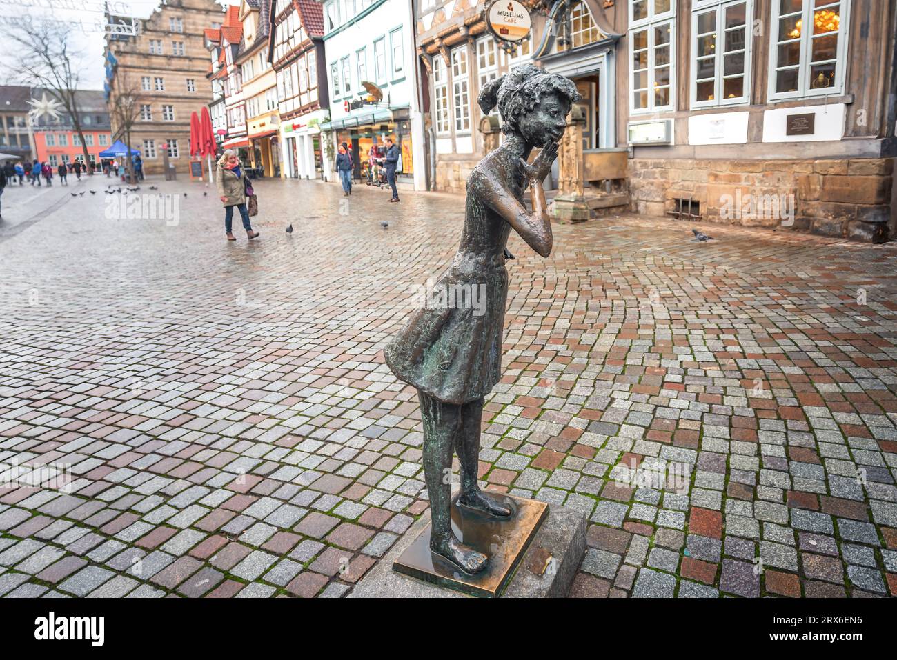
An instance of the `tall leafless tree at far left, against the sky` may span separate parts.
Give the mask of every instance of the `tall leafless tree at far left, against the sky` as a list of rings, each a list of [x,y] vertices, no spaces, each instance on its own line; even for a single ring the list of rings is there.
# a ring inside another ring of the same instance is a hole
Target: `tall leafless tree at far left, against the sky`
[[[5,63],[7,71],[18,71],[15,75],[22,83],[41,87],[62,104],[72,120],[74,132],[78,134],[83,149],[84,166],[88,167],[91,156],[81,126],[78,105],[79,72],[83,69],[83,56],[73,52],[69,44],[69,30],[65,23],[43,21],[24,16],[14,22],[4,23],[0,39],[5,40],[5,48],[14,53],[14,62]]]

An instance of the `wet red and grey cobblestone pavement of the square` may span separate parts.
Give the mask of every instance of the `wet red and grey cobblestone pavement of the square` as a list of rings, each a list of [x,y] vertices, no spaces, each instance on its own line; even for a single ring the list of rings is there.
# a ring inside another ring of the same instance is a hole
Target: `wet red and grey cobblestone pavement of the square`
[[[381,350],[460,198],[262,182],[248,244],[105,185],[4,195],[0,462],[71,484],[0,491],[0,595],[347,594],[427,508]],[[573,595],[893,595],[897,247],[691,228],[512,240],[483,482],[588,515]]]

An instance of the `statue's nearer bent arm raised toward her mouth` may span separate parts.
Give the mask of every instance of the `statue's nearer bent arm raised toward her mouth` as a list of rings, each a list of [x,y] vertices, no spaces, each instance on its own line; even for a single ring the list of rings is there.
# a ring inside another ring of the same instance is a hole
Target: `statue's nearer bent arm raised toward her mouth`
[[[539,256],[549,256],[552,253],[552,225],[546,212],[545,191],[542,181],[535,177],[529,178],[530,195],[533,202],[533,212],[520,204],[514,195],[511,195],[507,187],[501,184],[497,177],[476,172],[475,187],[478,189],[483,203],[492,208],[492,211],[501,215],[511,227],[527,241],[527,245],[536,250]]]

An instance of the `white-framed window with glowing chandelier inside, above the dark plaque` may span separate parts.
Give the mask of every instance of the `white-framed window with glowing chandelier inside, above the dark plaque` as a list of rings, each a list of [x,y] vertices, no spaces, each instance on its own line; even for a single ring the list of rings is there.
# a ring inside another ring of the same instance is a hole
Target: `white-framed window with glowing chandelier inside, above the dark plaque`
[[[849,9],[849,0],[772,3],[769,100],[844,93]]]

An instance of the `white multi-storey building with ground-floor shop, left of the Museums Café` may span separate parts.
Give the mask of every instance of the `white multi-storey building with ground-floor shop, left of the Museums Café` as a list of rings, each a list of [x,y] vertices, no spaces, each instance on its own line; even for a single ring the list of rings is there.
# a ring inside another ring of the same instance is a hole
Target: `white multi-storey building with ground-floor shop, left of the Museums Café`
[[[407,0],[361,0],[324,4],[324,43],[330,93],[330,121],[321,129],[332,145],[348,143],[353,150],[355,178],[365,176],[370,153],[382,154],[391,137],[399,145],[398,181],[426,189],[423,117],[418,97],[414,22]],[[369,97],[361,83],[372,83],[381,99]],[[325,172],[333,172],[332,153],[321,150]]]

